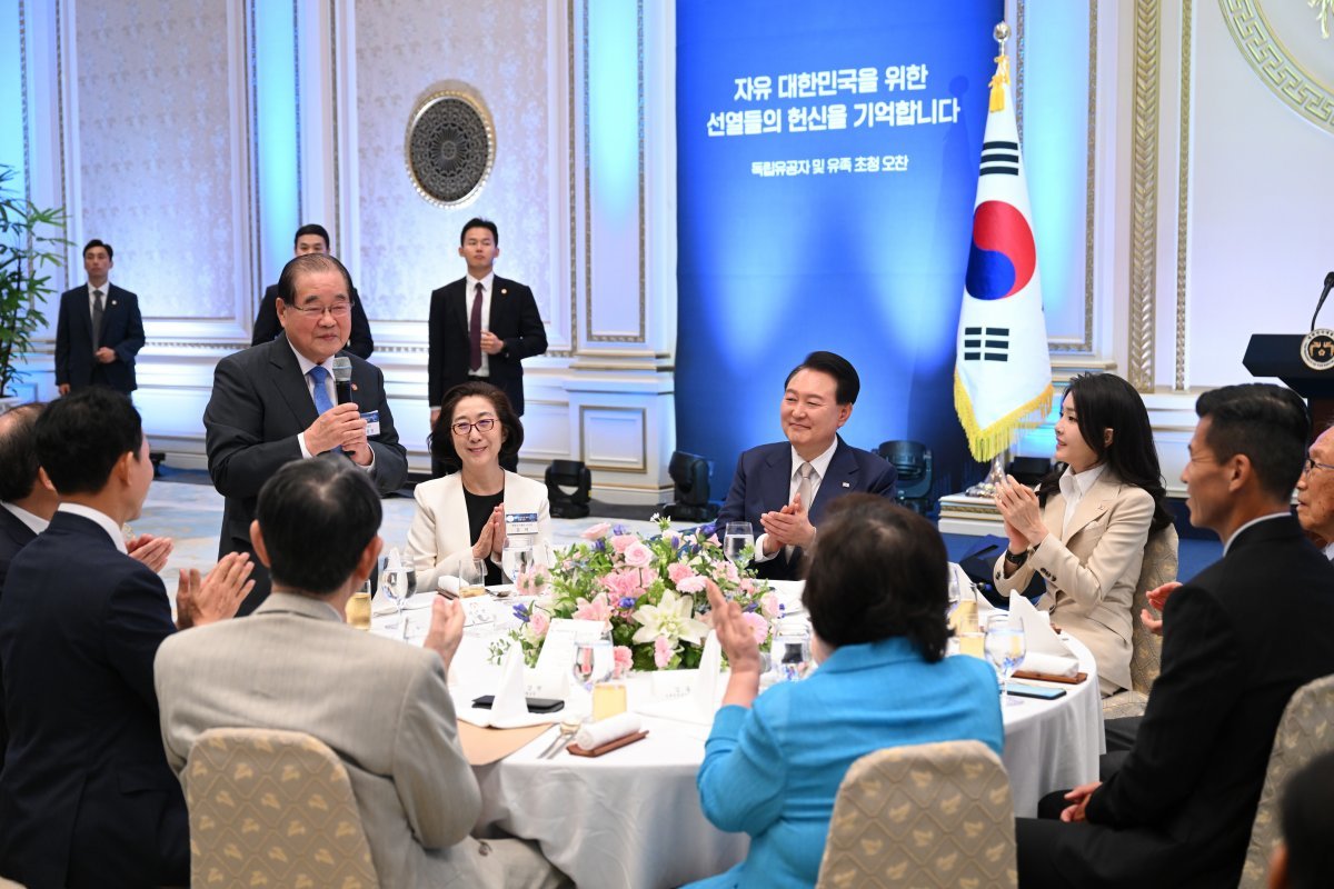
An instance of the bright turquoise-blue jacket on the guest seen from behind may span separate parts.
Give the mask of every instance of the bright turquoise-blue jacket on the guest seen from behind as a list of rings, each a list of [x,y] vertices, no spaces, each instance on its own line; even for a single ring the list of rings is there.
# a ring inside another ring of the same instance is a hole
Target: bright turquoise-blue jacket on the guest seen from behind
[[[975,657],[928,664],[906,638],[844,645],[751,709],[724,706],[696,784],[704,816],[751,836],[746,861],[708,886],[814,886],[848,766],[887,746],[1005,744],[995,672]]]

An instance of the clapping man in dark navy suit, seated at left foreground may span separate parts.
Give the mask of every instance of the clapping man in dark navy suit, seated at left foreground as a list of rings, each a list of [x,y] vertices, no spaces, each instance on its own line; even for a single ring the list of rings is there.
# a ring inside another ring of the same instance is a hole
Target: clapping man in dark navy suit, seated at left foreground
[[[15,556],[0,600],[0,874],[35,889],[184,884],[185,801],[152,680],[171,604],[121,536],[153,477],[148,440],[129,399],[103,387],[47,405],[35,433],[61,502]],[[236,556],[204,584],[183,576],[181,624],[233,614],[245,574]]]

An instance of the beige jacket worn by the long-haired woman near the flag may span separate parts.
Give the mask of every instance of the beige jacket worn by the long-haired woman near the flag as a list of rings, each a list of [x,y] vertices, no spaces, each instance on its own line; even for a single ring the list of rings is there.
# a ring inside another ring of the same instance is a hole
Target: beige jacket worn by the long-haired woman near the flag
[[[1121,481],[1111,469],[1083,496],[1061,529],[1066,498],[1054,490],[1042,509],[1046,540],[1030,550],[1010,577],[1005,553],[996,560],[996,589],[1009,596],[1022,590],[1038,572],[1047,592],[1038,608],[1083,642],[1098,664],[1102,693],[1130,688],[1131,601],[1154,517],[1154,498],[1143,488]]]

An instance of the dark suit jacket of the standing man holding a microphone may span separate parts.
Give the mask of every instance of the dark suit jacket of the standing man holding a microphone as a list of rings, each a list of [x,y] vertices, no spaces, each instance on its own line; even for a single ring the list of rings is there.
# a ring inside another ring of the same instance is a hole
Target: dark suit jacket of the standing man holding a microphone
[[[352,361],[352,399],[362,413],[380,412],[380,435],[370,439],[375,453],[371,480],[380,493],[398,490],[408,476],[408,456],[394,429],[394,415],[384,397],[384,375],[358,356]],[[287,335],[229,355],[213,371],[213,395],[204,409],[208,474],[217,493],[227,497],[219,557],[255,550],[249,525],[255,518],[259,489],[285,462],[301,458],[296,436],[319,413],[301,376]],[[255,589],[241,602],[249,614],[268,596],[269,578],[255,558]]]

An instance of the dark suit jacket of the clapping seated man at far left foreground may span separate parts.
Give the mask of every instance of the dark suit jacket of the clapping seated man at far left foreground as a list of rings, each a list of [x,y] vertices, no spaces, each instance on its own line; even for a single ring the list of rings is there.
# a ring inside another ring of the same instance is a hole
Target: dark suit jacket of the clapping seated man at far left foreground
[[[15,556],[0,600],[0,874],[39,889],[189,881],[153,692],[173,630],[161,580],[89,518],[57,512]]]

